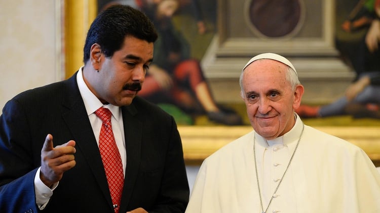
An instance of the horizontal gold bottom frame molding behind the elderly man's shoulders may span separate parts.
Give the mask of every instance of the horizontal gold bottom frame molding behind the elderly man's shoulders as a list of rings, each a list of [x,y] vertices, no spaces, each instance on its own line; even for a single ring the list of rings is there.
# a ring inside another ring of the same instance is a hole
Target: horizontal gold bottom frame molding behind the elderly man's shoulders
[[[345,139],[364,150],[380,166],[380,127],[319,126],[318,130]],[[210,154],[252,131],[251,126],[178,126],[187,165],[200,165]],[[323,156],[321,156],[323,157]]]

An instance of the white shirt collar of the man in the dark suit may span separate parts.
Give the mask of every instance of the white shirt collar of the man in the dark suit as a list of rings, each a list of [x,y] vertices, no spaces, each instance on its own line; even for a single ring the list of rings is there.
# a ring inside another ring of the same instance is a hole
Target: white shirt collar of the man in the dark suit
[[[119,115],[120,115],[120,108],[110,103],[103,104],[95,96],[95,94],[91,92],[91,90],[86,85],[85,80],[83,79],[83,68],[84,66],[82,66],[78,71],[77,83],[78,83],[79,91],[81,92],[83,102],[85,103],[87,116],[90,116],[91,114],[93,114],[97,109],[104,107],[104,108],[108,108],[109,111],[111,111],[113,117],[115,117],[116,120],[118,120]]]

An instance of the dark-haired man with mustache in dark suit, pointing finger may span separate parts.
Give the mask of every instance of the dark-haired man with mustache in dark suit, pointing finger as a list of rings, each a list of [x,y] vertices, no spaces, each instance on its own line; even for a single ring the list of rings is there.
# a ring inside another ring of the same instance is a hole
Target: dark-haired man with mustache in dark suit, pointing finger
[[[156,39],[141,12],[112,6],[90,27],[84,67],[6,103],[0,117],[0,212],[184,211],[189,189],[176,123],[136,96]],[[111,196],[109,163],[99,151],[99,108],[112,114],[124,174],[119,202]]]

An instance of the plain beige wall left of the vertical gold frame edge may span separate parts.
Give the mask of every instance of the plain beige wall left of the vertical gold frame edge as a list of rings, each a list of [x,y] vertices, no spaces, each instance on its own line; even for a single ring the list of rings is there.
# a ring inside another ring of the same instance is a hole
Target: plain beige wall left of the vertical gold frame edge
[[[62,79],[59,2],[0,0],[0,109],[19,92]]]

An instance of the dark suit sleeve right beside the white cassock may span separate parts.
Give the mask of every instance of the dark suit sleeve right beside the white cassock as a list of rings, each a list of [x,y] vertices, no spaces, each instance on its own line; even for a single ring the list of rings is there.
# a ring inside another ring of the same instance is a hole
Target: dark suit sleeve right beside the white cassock
[[[188,202],[189,187],[183,159],[182,143],[173,118],[171,127],[171,137],[166,155],[161,193],[157,205],[148,210],[150,213],[184,212]]]

